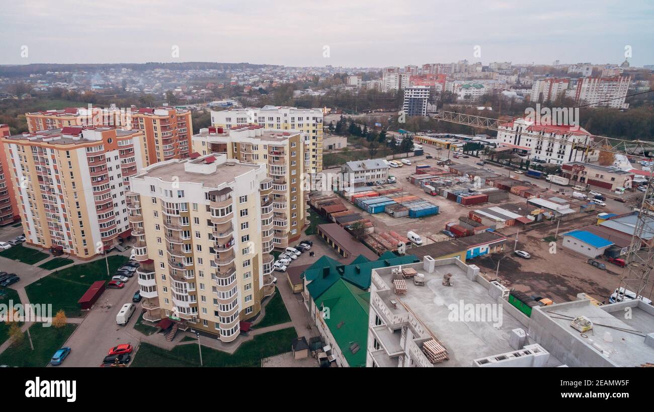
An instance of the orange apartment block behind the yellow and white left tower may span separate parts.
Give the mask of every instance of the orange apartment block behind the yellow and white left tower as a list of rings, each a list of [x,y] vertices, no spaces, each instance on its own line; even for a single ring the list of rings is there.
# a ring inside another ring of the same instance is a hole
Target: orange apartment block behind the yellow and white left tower
[[[188,157],[193,133],[191,112],[173,107],[69,107],[25,114],[30,133],[69,126],[120,126],[143,131],[145,164]]]

